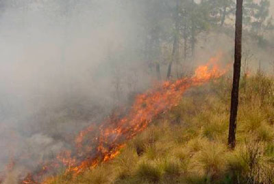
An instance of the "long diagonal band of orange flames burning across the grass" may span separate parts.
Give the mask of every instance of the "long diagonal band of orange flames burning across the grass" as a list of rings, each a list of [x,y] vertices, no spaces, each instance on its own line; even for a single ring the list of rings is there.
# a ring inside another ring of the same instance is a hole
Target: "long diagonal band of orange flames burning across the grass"
[[[125,140],[142,132],[159,114],[177,106],[187,89],[223,76],[228,67],[221,69],[221,57],[219,54],[212,57],[206,65],[197,67],[195,75],[190,78],[166,81],[146,93],[137,95],[132,108],[125,116],[120,118],[119,114],[113,114],[101,123],[99,130],[91,125],[79,132],[75,138],[76,156],[72,156],[71,151],[64,151],[58,155],[58,162],[66,166],[67,173],[79,174],[88,168],[95,168],[101,162],[113,159],[125,147]],[[44,166],[41,172],[47,172],[55,166],[59,166],[56,161]],[[35,176],[28,174],[22,183],[38,183],[42,177],[41,172]]]

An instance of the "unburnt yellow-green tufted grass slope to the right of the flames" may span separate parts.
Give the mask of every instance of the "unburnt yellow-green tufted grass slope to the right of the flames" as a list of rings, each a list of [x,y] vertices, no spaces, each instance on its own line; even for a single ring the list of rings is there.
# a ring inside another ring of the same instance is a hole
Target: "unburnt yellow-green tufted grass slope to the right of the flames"
[[[273,78],[242,78],[235,151],[227,150],[230,81],[188,91],[112,161],[45,183],[273,183]]]

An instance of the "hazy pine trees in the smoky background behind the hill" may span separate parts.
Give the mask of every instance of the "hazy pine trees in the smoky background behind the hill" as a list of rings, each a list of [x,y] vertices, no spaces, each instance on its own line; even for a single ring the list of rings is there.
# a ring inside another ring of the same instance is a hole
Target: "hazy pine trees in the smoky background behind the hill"
[[[141,0],[131,4],[136,8],[134,16],[142,17],[142,55],[159,80],[182,77],[174,65],[191,61],[200,33],[234,32],[234,0]],[[274,29],[269,7],[269,0],[243,2],[243,29],[258,46],[267,44],[264,33]],[[164,76],[160,74],[162,66],[167,70]]]

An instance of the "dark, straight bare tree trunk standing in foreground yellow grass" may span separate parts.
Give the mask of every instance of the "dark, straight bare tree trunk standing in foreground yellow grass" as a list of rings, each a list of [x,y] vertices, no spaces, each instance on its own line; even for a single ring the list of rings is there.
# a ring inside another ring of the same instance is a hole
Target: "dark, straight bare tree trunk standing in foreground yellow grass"
[[[230,149],[234,149],[236,145],[236,118],[238,112],[240,63],[242,59],[242,1],[243,0],[237,0],[236,5],[235,58],[228,136]]]

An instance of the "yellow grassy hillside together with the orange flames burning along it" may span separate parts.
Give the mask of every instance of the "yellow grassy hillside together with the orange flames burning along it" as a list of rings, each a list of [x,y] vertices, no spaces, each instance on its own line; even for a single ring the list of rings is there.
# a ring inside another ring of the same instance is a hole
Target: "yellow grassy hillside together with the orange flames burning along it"
[[[223,76],[227,69],[218,69],[219,57],[198,67],[191,78],[164,82],[138,95],[127,113],[112,114],[99,131],[92,126],[84,129],[75,138],[75,153],[64,151],[43,167],[60,170],[56,163],[61,162],[66,166],[63,174],[47,179],[29,175],[23,183],[274,181],[273,80],[261,73],[245,78],[240,89],[238,144],[236,151],[229,152],[231,79]],[[262,83],[267,84],[264,89],[260,89]],[[247,142],[260,147],[257,155]],[[247,156],[252,154],[260,162]]]

